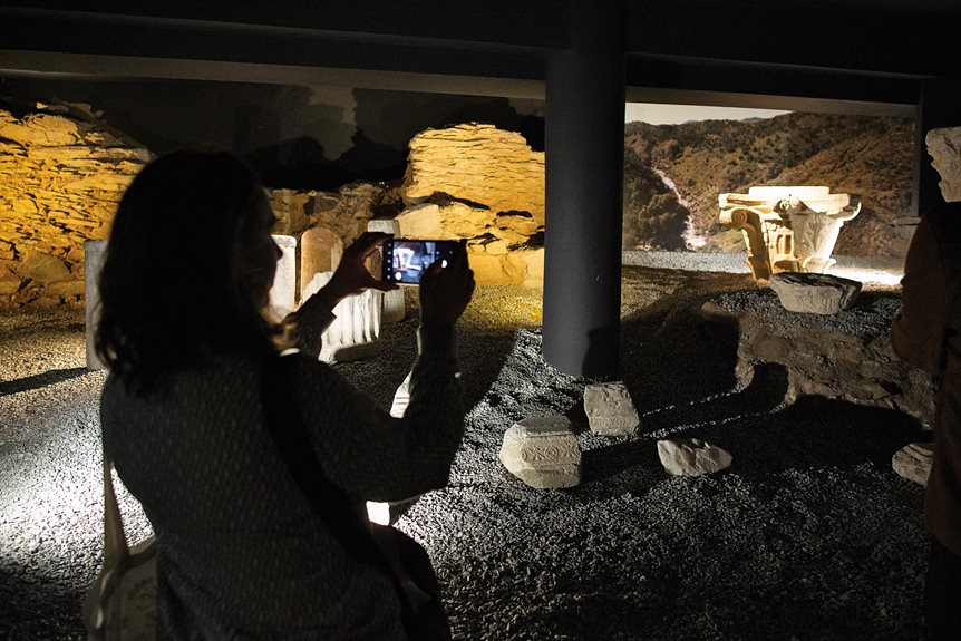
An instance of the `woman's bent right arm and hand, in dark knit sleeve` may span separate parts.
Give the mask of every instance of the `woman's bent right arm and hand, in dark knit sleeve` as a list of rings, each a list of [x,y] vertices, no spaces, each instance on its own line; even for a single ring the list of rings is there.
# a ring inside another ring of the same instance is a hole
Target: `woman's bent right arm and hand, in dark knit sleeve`
[[[474,291],[462,244],[420,284],[410,404],[392,418],[323,363],[300,359],[297,394],[328,477],[357,498],[399,501],[443,487],[464,434],[455,323]]]

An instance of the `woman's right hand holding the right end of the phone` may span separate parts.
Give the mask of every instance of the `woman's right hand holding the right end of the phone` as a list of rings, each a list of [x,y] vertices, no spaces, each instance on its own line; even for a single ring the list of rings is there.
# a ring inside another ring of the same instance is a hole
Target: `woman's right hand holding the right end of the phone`
[[[454,324],[474,295],[467,242],[460,241],[448,265],[433,263],[420,276],[420,324]]]

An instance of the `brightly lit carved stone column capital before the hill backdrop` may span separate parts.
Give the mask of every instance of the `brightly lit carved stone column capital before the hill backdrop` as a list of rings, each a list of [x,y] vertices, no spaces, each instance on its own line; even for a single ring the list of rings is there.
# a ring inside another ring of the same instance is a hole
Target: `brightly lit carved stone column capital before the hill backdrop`
[[[750,187],[718,204],[720,223],[744,232],[751,274],[764,283],[779,272],[827,272],[841,227],[861,211],[858,196],[822,186]]]

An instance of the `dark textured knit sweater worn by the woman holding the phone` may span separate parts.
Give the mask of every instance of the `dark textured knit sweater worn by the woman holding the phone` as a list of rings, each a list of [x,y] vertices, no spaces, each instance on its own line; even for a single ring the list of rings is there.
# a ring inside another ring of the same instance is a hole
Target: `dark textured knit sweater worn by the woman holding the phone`
[[[421,328],[418,342],[401,419],[316,355],[289,357],[323,469],[358,501],[447,483],[464,430],[454,329]],[[276,450],[260,373],[259,359],[224,353],[145,395],[116,375],[104,388],[105,449],[157,536],[158,638],[404,639],[389,579],[340,548]]]

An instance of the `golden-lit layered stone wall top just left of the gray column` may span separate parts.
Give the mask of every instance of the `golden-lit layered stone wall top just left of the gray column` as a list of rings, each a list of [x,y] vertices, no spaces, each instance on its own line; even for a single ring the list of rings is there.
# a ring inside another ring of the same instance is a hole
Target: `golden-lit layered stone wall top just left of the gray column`
[[[469,123],[427,129],[409,146],[405,202],[448,194],[492,212],[528,212],[544,223],[544,154],[521,134]]]

